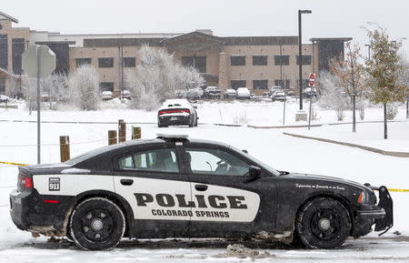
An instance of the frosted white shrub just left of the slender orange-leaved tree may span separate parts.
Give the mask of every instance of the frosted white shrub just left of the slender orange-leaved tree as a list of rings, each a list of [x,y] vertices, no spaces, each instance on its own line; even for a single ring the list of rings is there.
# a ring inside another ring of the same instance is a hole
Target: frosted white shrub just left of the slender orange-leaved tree
[[[322,72],[318,78],[321,96],[318,104],[323,108],[333,109],[338,120],[344,119],[344,111],[349,107],[349,97],[344,87],[337,86],[339,79],[330,72]]]

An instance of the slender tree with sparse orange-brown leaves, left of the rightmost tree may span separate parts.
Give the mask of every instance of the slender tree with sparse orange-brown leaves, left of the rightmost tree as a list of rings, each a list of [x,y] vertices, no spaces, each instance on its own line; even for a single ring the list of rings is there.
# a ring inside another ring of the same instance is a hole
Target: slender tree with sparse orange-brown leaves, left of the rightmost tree
[[[348,96],[352,97],[353,104],[353,132],[356,131],[356,96],[362,98],[364,95],[364,66],[360,63],[361,49],[359,46],[352,46],[350,42],[345,45],[346,55],[330,60],[330,72],[334,74],[337,86],[344,88]],[[360,104],[363,106],[364,104]],[[361,109],[362,110],[362,109]]]

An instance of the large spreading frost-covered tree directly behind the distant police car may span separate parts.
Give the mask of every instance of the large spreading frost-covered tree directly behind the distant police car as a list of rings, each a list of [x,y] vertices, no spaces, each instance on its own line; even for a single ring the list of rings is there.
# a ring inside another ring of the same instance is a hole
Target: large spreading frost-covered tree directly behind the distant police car
[[[165,48],[141,46],[142,65],[125,76],[125,86],[135,99],[133,106],[152,110],[162,100],[175,96],[175,90],[203,86],[204,80],[193,67],[175,63]]]

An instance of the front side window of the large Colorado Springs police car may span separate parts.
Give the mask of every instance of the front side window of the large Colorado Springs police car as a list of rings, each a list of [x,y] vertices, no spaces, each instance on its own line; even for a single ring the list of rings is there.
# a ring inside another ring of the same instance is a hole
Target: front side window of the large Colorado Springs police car
[[[249,165],[223,150],[185,148],[190,167],[196,175],[246,176]]]

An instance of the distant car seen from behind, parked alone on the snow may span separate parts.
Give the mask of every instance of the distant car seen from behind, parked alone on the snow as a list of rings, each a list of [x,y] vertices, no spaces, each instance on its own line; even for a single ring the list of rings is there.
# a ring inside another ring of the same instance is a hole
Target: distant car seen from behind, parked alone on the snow
[[[197,126],[196,107],[185,98],[166,99],[157,112],[157,126]]]

